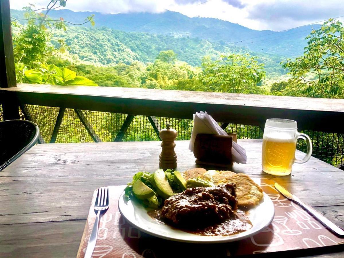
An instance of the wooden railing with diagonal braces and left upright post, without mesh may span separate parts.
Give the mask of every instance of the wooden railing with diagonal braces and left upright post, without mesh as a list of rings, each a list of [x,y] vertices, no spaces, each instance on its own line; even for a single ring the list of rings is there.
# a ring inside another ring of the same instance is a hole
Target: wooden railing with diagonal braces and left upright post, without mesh
[[[155,133],[158,133],[160,125],[157,121],[159,119],[154,117],[192,119],[195,112],[204,110],[217,121],[222,122],[223,128],[226,128],[228,123],[234,123],[259,126],[263,130],[266,119],[277,117],[297,120],[299,128],[321,132],[322,138],[319,138],[320,141],[323,140],[322,132],[329,132],[332,136],[334,136],[333,133],[340,134],[332,137],[332,146],[334,138],[338,142],[336,147],[332,148],[335,149],[335,153],[331,154],[336,155],[340,152],[340,161],[343,161],[344,127],[341,124],[344,118],[343,99],[141,88],[17,85],[9,0],[0,1],[0,67],[0,112],[2,112],[0,119],[18,119],[18,107],[22,110],[25,119],[28,120],[32,120],[29,110],[26,109],[28,105],[57,107],[58,114],[56,115],[56,121],[54,121],[55,125],[53,126],[51,138],[48,140],[51,143],[56,141],[67,109],[68,111],[71,111],[70,109],[74,110],[75,114],[73,114],[82,122],[87,133],[95,142],[101,141],[101,138],[97,135],[97,131],[92,128],[83,110],[127,114],[126,118],[121,122],[121,128],[117,130],[117,134],[114,137],[111,135],[110,140],[115,141],[123,139],[130,123],[137,115],[147,116]],[[262,130],[259,130],[258,137],[261,136]],[[187,132],[190,133],[189,129]],[[329,134],[327,134],[327,140],[328,138]],[[342,139],[341,145],[339,139]],[[41,138],[40,141],[44,142],[44,139]],[[322,153],[323,150],[320,158],[322,158]]]

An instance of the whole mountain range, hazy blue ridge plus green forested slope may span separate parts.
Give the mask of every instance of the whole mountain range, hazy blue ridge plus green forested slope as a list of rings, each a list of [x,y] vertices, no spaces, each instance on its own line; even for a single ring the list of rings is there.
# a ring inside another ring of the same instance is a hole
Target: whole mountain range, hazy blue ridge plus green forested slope
[[[22,18],[23,11],[11,10],[11,16]],[[66,32],[57,31],[52,43],[63,37],[70,53],[84,63],[95,65],[130,64],[133,61],[153,62],[162,50],[173,50],[178,59],[200,66],[202,57],[218,58],[221,53],[247,53],[259,57],[267,75],[279,76],[286,71],[280,62],[302,55],[304,40],[311,26],[283,32],[257,31],[212,18],[190,18],[181,13],[103,14],[52,10],[53,19],[80,23],[95,14],[96,25],[69,25]],[[314,25],[317,28],[318,24]],[[249,40],[247,40],[249,39]]]

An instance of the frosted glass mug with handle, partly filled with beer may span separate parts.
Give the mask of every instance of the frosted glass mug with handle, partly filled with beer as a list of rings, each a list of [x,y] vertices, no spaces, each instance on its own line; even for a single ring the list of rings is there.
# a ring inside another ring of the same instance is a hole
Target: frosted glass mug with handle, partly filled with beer
[[[307,154],[302,160],[295,158],[296,142],[307,143]],[[312,142],[308,135],[297,131],[297,122],[289,119],[267,119],[262,146],[262,169],[272,175],[289,175],[293,163],[305,163],[312,155]]]

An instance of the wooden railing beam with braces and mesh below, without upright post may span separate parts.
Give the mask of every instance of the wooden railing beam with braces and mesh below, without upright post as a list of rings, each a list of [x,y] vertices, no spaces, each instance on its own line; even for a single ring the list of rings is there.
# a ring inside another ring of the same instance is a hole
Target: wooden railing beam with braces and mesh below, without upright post
[[[313,139],[314,157],[338,166],[344,161],[343,99],[19,84],[18,87],[0,88],[0,103],[7,106],[7,110],[3,110],[7,111],[5,119],[19,117],[20,107],[25,119],[42,126],[44,135],[40,138],[41,143],[75,142],[76,135],[79,137],[76,142],[84,141],[81,139],[85,137],[87,141],[94,142],[159,140],[159,130],[168,120],[173,120],[176,126],[182,125],[179,127],[180,139],[187,140],[190,138],[193,114],[200,110],[209,112],[222,123],[224,129],[230,123],[226,129],[228,132],[239,133],[238,136],[244,138],[261,138],[267,118],[289,118],[297,120],[300,129],[310,130],[304,132]],[[51,111],[43,115],[40,110]],[[114,126],[107,122],[102,118],[105,114],[112,114],[111,119],[119,118],[119,123]],[[42,117],[43,120],[44,117],[51,118],[48,125],[42,123]],[[72,122],[69,129],[62,125],[63,120],[70,122],[75,119],[82,125]],[[146,122],[143,122],[144,119]],[[107,126],[111,125],[111,132],[106,135],[101,129],[104,122]],[[150,128],[147,127],[149,124]],[[80,130],[84,133],[80,134]],[[142,138],[142,135],[146,136]],[[306,150],[299,143],[298,149]]]

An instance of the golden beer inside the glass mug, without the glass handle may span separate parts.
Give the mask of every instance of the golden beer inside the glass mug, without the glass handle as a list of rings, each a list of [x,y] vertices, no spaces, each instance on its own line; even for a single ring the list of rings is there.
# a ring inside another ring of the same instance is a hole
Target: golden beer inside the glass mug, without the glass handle
[[[290,138],[283,134],[278,138],[265,136],[262,147],[262,169],[272,175],[289,175],[295,159],[295,149],[294,137]]]

